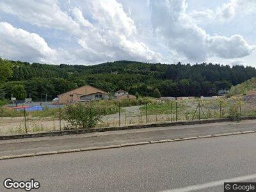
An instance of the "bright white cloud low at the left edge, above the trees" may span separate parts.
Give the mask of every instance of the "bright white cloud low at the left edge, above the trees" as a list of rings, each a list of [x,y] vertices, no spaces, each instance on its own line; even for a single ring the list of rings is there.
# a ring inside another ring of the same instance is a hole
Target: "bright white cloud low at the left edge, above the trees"
[[[3,58],[52,63],[55,54],[41,36],[0,22],[0,56]]]

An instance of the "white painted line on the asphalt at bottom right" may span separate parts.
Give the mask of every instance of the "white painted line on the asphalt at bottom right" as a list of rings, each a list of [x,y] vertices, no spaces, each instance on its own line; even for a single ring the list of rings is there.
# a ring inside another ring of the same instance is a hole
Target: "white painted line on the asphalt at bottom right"
[[[245,175],[242,177],[235,177],[232,179],[223,179],[223,180],[217,180],[214,182],[207,182],[205,184],[198,184],[195,186],[188,186],[185,188],[178,188],[178,189],[170,189],[170,190],[165,190],[162,192],[187,192],[187,191],[197,191],[200,189],[207,189],[207,188],[212,188],[215,186],[221,186],[224,184],[224,182],[241,182],[243,180],[251,180],[251,179],[256,179],[256,174],[253,175]]]

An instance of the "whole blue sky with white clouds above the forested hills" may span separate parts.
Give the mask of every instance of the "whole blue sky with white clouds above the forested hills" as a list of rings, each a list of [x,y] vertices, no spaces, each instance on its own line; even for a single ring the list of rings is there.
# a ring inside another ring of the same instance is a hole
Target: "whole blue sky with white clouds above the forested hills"
[[[256,67],[256,0],[1,0],[0,57]]]

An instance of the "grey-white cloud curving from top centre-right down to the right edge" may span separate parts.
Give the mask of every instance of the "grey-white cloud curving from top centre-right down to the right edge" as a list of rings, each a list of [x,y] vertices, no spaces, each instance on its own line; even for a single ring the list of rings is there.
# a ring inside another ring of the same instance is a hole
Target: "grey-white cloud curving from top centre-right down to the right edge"
[[[189,61],[204,61],[209,56],[240,58],[255,49],[240,35],[207,34],[186,13],[184,0],[151,1],[151,8],[155,33],[166,39],[170,49],[184,54]]]

